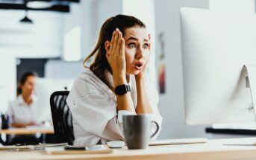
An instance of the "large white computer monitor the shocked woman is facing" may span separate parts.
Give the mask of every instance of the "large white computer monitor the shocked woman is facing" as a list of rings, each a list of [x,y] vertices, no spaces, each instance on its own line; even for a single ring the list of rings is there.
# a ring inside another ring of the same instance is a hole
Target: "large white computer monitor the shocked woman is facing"
[[[256,65],[256,15],[181,8],[181,46],[186,123],[255,124],[243,66]]]

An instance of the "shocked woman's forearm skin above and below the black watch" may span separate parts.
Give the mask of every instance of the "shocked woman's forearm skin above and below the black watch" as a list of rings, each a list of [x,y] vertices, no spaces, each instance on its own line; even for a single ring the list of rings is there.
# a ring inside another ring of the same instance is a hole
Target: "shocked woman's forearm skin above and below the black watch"
[[[113,82],[115,87],[122,84],[127,84],[126,77],[119,77],[119,75],[113,76]],[[117,101],[117,110],[127,110],[135,113],[134,103],[131,99],[130,92],[127,92],[125,95],[116,95],[116,101]]]

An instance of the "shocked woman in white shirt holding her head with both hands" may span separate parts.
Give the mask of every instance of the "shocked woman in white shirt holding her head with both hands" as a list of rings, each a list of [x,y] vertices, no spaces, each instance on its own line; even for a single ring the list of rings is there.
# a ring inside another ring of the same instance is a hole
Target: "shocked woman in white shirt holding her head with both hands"
[[[157,91],[146,77],[150,57],[146,25],[133,16],[107,19],[84,66],[93,56],[66,100],[73,116],[74,145],[124,140],[122,115],[150,114],[160,126]],[[152,132],[155,129],[152,125]]]

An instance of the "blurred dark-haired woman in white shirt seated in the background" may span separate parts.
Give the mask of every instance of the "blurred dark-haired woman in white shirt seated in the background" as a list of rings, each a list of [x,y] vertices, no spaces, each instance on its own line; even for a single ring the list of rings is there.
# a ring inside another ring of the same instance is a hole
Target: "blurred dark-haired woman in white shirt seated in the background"
[[[7,115],[10,116],[11,127],[28,127],[37,124],[36,97],[34,95],[36,74],[22,74],[18,87],[18,97],[10,102]],[[37,144],[35,135],[16,135],[12,144]]]

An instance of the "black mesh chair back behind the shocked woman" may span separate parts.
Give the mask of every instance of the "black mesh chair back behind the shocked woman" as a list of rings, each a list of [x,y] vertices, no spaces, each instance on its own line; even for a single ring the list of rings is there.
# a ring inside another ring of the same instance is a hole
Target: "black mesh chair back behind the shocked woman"
[[[67,142],[69,145],[72,145],[75,138],[72,115],[66,104],[66,97],[68,95],[69,91],[57,91],[51,94],[51,118],[53,121],[55,142]]]

